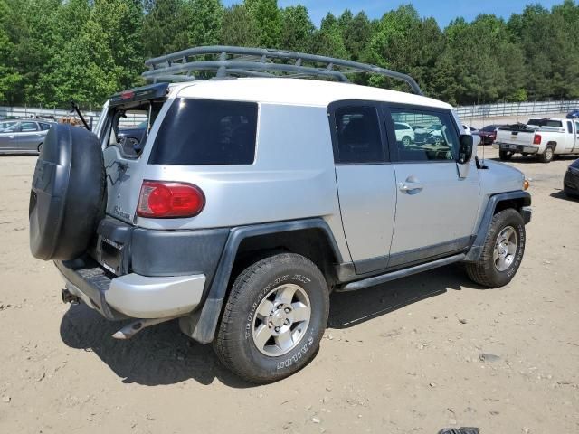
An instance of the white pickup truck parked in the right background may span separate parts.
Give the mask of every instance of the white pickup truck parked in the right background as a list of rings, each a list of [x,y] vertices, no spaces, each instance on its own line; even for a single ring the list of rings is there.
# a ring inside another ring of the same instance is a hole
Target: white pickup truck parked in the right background
[[[579,119],[530,118],[527,124],[499,127],[493,147],[503,161],[522,154],[549,163],[557,154],[579,154]]]

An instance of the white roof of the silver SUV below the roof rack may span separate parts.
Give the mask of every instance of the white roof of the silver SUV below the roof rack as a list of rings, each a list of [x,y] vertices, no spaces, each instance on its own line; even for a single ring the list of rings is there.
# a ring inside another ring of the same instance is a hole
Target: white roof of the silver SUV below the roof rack
[[[363,99],[439,109],[452,108],[445,102],[413,93],[322,80],[287,78],[199,80],[173,84],[171,89],[172,95],[177,98],[227,99],[317,107],[327,107],[331,102],[342,99]]]

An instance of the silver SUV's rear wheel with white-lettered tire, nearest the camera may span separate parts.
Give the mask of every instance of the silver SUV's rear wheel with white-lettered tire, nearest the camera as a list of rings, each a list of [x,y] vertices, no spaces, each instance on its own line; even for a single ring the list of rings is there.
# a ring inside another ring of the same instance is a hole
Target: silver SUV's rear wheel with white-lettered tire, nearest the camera
[[[294,316],[298,309],[308,320]],[[214,350],[242,379],[276,382],[316,354],[328,314],[326,279],[309,259],[294,253],[261,259],[235,279]]]

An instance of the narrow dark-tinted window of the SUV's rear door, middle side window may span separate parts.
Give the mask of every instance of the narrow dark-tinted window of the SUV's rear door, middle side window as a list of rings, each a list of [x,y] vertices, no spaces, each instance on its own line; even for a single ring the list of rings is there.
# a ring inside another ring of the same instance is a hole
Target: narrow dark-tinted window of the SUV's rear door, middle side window
[[[378,111],[374,106],[336,109],[336,163],[384,163]]]

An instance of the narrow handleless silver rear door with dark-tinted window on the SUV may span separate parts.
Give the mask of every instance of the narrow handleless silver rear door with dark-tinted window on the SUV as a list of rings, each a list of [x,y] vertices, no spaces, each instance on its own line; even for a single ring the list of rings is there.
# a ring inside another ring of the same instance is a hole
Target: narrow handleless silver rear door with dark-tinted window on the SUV
[[[340,212],[356,273],[385,269],[396,190],[380,104],[340,101],[328,109]]]

